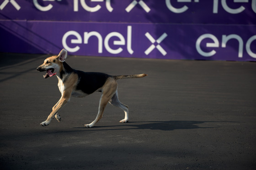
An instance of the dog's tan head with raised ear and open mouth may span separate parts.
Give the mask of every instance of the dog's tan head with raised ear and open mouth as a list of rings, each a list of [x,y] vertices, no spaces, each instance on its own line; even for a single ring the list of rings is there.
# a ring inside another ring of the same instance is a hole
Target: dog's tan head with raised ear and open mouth
[[[37,70],[40,72],[46,71],[46,74],[43,75],[45,79],[53,75],[56,75],[57,73],[59,73],[60,69],[63,67],[62,63],[67,58],[67,55],[68,55],[68,52],[65,49],[62,49],[59,52],[59,55],[51,56],[45,59],[43,64],[37,67]]]

